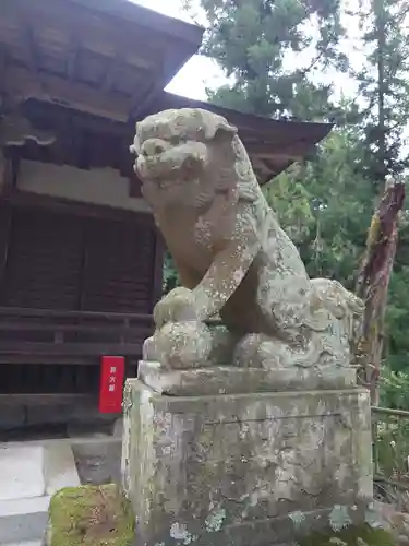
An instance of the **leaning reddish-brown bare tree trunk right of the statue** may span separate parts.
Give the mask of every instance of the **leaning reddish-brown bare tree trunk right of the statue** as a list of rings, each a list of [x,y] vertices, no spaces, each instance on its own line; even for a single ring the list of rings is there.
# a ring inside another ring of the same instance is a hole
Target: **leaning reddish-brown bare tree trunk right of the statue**
[[[357,282],[357,295],[365,304],[363,329],[356,348],[359,380],[371,391],[372,405],[378,404],[377,383],[384,341],[387,289],[398,237],[398,216],[404,206],[405,185],[386,187],[368,234],[366,252]]]

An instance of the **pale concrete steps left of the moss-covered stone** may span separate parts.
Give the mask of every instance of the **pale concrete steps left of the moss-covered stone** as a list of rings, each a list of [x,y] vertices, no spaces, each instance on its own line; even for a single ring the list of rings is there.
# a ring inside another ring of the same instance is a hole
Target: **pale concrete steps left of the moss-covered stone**
[[[71,446],[0,446],[0,545],[41,541],[50,497],[80,485]]]

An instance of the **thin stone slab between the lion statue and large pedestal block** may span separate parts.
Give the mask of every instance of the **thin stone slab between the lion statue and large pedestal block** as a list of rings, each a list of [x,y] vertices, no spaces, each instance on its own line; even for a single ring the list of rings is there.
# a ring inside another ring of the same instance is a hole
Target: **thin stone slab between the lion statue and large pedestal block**
[[[164,369],[140,361],[137,377],[155,392],[178,396],[243,394],[291,390],[345,389],[356,385],[352,367],[260,369],[214,366],[189,370]]]

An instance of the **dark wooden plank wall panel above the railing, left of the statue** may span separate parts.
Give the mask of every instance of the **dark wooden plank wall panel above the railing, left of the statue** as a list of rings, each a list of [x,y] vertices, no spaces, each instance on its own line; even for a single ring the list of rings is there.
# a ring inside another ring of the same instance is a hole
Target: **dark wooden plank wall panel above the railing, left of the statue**
[[[0,223],[0,306],[152,312],[156,233],[148,223],[4,204]]]

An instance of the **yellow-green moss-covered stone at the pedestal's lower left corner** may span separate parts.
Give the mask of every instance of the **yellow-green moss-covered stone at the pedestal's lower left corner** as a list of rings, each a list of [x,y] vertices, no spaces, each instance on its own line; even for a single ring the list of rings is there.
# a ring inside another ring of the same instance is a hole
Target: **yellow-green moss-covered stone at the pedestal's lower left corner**
[[[130,546],[134,521],[113,484],[61,489],[50,502],[48,546]]]

